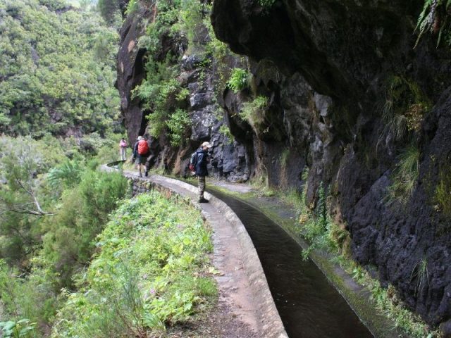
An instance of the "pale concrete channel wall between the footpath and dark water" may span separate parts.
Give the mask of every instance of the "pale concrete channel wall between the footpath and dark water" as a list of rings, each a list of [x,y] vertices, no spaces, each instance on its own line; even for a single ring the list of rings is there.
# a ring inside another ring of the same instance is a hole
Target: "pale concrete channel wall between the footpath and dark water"
[[[112,170],[106,166],[102,167],[102,169],[106,171]],[[193,199],[193,196],[194,198],[197,196],[197,188],[190,184],[159,175],[151,175],[148,178],[135,177],[128,172],[125,172],[124,175],[131,181],[133,196],[149,192],[152,189],[157,189],[168,196],[177,194],[183,197],[189,197],[190,202],[197,208],[200,208],[199,204],[194,203]],[[266,276],[261,267],[259,256],[257,255],[257,251],[254,248],[254,244],[252,243],[245,226],[241,223],[240,219],[232,209],[223,201],[209,193],[205,193],[204,196],[209,199],[209,204],[214,206],[218,213],[221,214],[221,217],[226,219],[228,225],[233,228],[233,234],[240,243],[242,250],[242,268],[245,275],[247,275],[247,281],[250,286],[249,289],[252,292],[252,303],[255,304],[253,311],[257,320],[259,337],[288,338],[288,334],[285,332],[282,320],[278,314],[276,304],[269,291],[268,282],[266,281]],[[202,211],[202,216],[215,230],[216,221],[210,217],[209,213]],[[224,245],[226,245],[226,243],[224,243]]]

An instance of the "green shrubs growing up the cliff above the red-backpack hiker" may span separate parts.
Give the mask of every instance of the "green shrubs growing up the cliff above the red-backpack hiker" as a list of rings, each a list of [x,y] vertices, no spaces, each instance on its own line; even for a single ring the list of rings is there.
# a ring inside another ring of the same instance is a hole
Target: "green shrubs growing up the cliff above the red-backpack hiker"
[[[183,36],[187,35],[190,46],[196,44],[202,6],[195,0],[159,1],[158,14],[139,41],[150,57],[145,65],[147,78],[134,89],[132,97],[139,98],[143,107],[151,112],[147,115],[149,133],[154,137],[167,133],[173,146],[184,144],[190,131],[191,120],[185,110],[190,92],[177,80],[178,56],[171,51],[160,56],[161,39],[171,37],[183,43]]]

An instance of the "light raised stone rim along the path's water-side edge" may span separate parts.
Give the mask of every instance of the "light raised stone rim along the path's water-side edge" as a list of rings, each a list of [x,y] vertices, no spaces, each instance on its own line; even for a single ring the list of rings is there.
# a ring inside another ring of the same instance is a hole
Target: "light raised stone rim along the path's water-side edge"
[[[113,171],[114,169],[103,165],[101,170]],[[125,177],[133,180],[147,181],[156,185],[159,189],[162,188],[173,192],[171,187],[165,185],[165,182],[167,182],[192,192],[194,196],[197,196],[197,187],[179,180],[174,180],[173,178],[160,175],[150,175],[147,178],[138,178],[127,172],[125,172]],[[175,192],[175,194],[179,193]],[[240,242],[240,246],[243,251],[243,268],[249,279],[249,283],[252,284],[251,289],[254,296],[254,301],[259,304],[259,308],[255,309],[257,320],[259,322],[259,334],[264,338],[288,338],[288,334],[285,331],[285,327],[283,327],[276,304],[273,301],[273,296],[269,291],[268,282],[261,266],[259,256],[257,255],[257,251],[255,250],[254,244],[252,243],[245,226],[242,224],[240,218],[238,218],[232,209],[226,203],[221,201],[221,199],[218,199],[208,192],[205,192],[204,196],[206,196],[206,198],[209,199],[210,204],[213,205],[228,220],[230,225],[234,228],[237,239]],[[192,201],[192,199],[190,199],[190,201]],[[194,201],[192,201],[192,204],[194,204]],[[214,227],[214,224],[211,224],[211,220],[209,220],[209,214],[202,213],[202,215],[206,218],[207,222]]]

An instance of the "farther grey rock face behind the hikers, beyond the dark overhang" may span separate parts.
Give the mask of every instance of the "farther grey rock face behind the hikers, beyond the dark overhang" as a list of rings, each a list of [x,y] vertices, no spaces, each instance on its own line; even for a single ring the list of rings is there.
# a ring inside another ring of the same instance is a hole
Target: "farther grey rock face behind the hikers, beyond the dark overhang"
[[[121,28],[121,47],[118,53],[118,80],[116,87],[121,94],[121,112],[124,124],[128,130],[130,144],[135,143],[138,135],[147,134],[145,115],[151,113],[142,110],[142,103],[132,98],[132,89],[141,84],[147,76],[144,63],[147,55],[145,49],[137,46],[138,39],[144,34],[145,20],[152,18],[152,11],[139,11],[129,15]],[[206,39],[202,31],[199,39]],[[204,41],[205,43],[205,41]],[[187,100],[187,111],[192,121],[192,130],[188,144],[180,148],[171,146],[168,136],[161,135],[159,139],[148,137],[152,149],[152,164],[156,167],[172,170],[176,175],[190,175],[187,170],[190,154],[204,141],[214,145],[211,151],[209,175],[225,178],[232,182],[244,182],[249,179],[252,163],[247,158],[247,150],[239,141],[230,141],[220,132],[223,124],[221,107],[216,102],[214,81],[216,73],[211,67],[205,67],[205,56],[193,52],[183,55],[186,46],[183,42],[163,37],[161,55],[164,59],[169,50],[174,55],[180,54],[180,74],[178,79],[190,95]],[[149,135],[147,135],[149,136]]]

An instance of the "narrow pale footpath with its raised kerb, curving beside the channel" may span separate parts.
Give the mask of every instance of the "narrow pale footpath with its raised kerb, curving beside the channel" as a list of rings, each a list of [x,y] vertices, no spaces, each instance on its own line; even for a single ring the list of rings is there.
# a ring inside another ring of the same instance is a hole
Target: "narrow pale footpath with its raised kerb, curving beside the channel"
[[[112,170],[106,168],[104,170]],[[191,200],[202,210],[212,228],[214,253],[212,263],[218,282],[219,298],[204,332],[227,338],[288,338],[268,288],[254,244],[237,215],[223,201],[205,193],[208,204],[197,204],[197,188],[159,175],[136,177],[124,171],[133,181],[135,194],[159,189]]]

